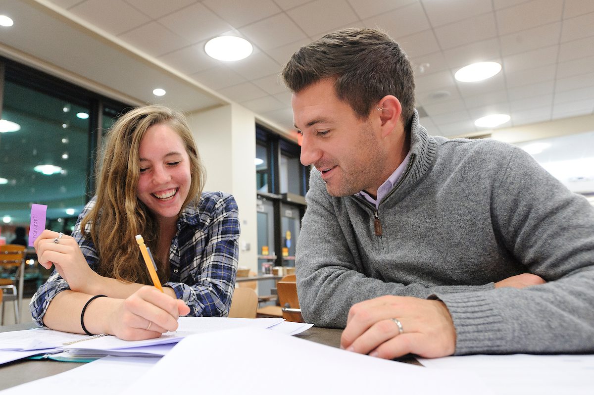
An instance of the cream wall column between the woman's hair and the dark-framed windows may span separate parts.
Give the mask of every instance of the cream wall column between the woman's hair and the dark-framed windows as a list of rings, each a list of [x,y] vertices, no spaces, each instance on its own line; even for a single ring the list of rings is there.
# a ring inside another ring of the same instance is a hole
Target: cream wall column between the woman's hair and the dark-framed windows
[[[229,192],[239,208],[239,265],[257,271],[254,113],[226,105],[193,113],[189,126],[207,171],[205,191]]]

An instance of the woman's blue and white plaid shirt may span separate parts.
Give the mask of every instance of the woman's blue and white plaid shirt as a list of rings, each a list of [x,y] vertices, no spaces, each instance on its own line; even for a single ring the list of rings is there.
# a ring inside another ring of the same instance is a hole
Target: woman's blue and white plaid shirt
[[[226,317],[237,274],[237,204],[232,195],[223,192],[203,192],[198,204],[194,203],[179,217],[178,232],[169,249],[170,281],[165,285],[189,306],[189,315]],[[93,270],[99,256],[93,241],[80,232],[80,221],[94,204],[95,198],[83,208],[72,232]],[[54,270],[31,299],[31,314],[37,323],[43,324],[49,303],[65,289],[70,289],[68,283]]]

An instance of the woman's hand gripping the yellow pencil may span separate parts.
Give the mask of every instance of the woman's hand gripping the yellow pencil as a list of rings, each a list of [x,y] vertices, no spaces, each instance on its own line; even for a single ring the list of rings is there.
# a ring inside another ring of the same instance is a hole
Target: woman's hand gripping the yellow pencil
[[[117,299],[107,320],[105,333],[123,340],[159,337],[178,328],[178,318],[189,313],[184,301],[172,298],[153,286],[144,286],[126,299]]]

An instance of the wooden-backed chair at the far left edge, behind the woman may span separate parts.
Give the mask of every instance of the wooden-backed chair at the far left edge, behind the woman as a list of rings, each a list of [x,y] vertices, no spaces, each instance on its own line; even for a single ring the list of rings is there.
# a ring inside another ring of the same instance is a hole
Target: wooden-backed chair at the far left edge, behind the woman
[[[26,247],[17,244],[6,244],[0,245],[0,266],[2,269],[8,268],[9,270],[16,268],[14,277],[12,278],[1,278],[0,279],[0,291],[4,294],[4,302],[2,303],[2,317],[0,318],[0,325],[4,324],[4,306],[6,302],[14,302],[14,321],[16,324],[20,321],[20,310],[18,305],[18,291],[17,291],[17,279],[21,279],[24,276],[24,261],[25,261],[25,250]],[[8,293],[7,291],[11,291]]]

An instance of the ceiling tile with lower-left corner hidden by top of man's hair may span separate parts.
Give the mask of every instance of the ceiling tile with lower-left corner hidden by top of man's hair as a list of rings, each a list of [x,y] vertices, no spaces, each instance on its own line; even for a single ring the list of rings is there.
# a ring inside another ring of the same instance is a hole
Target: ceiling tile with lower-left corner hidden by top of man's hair
[[[425,12],[419,3],[413,3],[397,10],[383,12],[363,21],[371,29],[386,30],[396,41],[419,31],[431,29]]]

